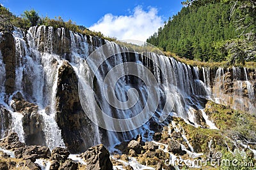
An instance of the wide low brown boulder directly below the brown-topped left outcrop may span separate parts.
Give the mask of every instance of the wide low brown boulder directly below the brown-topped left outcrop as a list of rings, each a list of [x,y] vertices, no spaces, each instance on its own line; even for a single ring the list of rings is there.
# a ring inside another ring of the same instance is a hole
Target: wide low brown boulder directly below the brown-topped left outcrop
[[[50,155],[51,152],[46,146],[26,146],[22,152],[23,159],[30,159],[33,162],[36,159],[47,159]]]

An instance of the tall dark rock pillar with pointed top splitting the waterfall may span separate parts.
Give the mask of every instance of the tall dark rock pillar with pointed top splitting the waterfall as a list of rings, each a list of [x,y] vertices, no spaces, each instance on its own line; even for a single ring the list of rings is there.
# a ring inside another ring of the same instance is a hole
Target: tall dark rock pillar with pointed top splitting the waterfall
[[[56,122],[71,153],[84,152],[93,146],[93,138],[90,136],[94,133],[93,124],[82,109],[77,76],[67,61],[63,62],[58,72],[56,111]]]

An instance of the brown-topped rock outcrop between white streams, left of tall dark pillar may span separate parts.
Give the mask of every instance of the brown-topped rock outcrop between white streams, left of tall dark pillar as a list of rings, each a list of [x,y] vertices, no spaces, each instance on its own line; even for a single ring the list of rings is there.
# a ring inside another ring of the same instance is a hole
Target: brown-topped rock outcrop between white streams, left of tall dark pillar
[[[38,114],[38,106],[25,101],[20,92],[13,96],[13,111],[24,115],[22,118],[25,141],[27,145],[46,145],[44,139],[44,119]]]

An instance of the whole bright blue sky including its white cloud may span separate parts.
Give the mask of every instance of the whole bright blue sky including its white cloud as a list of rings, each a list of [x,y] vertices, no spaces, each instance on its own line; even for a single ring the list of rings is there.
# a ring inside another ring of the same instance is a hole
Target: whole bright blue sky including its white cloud
[[[6,8],[20,15],[24,10],[36,10],[50,18],[61,16],[71,19],[106,36],[118,39],[145,41],[149,35],[163,25],[164,20],[175,15],[182,8],[182,1],[157,0],[98,0],[98,1],[39,1],[0,0]]]

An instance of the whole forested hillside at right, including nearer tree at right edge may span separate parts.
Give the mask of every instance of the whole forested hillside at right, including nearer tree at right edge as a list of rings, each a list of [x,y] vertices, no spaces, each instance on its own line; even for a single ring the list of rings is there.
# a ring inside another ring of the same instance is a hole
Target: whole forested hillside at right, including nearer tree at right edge
[[[147,39],[190,60],[228,65],[256,60],[255,1],[184,1],[186,7]]]

